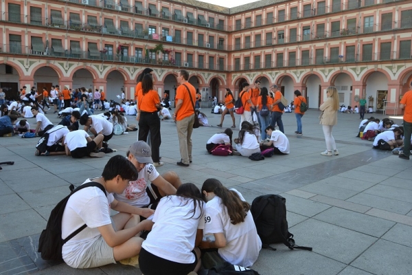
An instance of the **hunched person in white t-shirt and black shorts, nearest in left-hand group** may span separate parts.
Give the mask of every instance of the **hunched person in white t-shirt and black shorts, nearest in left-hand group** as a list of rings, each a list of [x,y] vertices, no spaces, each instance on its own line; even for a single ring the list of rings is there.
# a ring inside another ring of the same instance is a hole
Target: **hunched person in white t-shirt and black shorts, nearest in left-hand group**
[[[104,157],[104,153],[100,152],[104,135],[95,135],[91,137],[84,130],[72,131],[66,134],[63,143],[65,144],[66,155],[80,159],[82,157]]]

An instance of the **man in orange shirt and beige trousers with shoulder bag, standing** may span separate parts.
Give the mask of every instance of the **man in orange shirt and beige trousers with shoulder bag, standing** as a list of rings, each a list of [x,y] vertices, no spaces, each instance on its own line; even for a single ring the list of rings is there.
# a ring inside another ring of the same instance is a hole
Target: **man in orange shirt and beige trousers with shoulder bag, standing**
[[[179,136],[179,150],[181,161],[179,166],[189,166],[192,162],[192,131],[194,123],[194,102],[196,100],[196,89],[187,81],[189,72],[185,69],[179,71],[176,90],[176,109],[173,120],[176,121],[177,135]]]

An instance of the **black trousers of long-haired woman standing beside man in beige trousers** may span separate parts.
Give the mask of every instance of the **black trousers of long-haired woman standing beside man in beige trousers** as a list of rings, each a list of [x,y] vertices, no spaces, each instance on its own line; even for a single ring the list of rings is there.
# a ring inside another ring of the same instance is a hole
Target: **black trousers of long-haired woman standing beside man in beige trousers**
[[[146,142],[149,133],[153,162],[159,162],[161,144],[160,118],[157,115],[157,112],[147,113],[141,111],[139,120],[139,140]]]

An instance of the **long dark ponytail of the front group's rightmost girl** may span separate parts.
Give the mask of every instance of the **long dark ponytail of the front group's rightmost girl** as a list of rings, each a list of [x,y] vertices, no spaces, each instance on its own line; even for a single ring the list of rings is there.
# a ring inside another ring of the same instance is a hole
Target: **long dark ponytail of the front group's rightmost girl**
[[[206,179],[202,186],[203,191],[214,192],[216,196],[220,197],[223,205],[226,206],[232,224],[242,223],[247,212],[251,209],[249,203],[242,201],[238,193],[227,189],[218,179]]]

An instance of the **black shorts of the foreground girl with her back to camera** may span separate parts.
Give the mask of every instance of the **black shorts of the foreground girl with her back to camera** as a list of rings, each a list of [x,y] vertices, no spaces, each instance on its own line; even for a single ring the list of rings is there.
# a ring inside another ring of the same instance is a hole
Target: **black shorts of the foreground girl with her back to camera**
[[[140,270],[145,275],[182,275],[194,271],[198,259],[194,250],[194,263],[176,263],[147,252],[141,248],[139,254]]]

